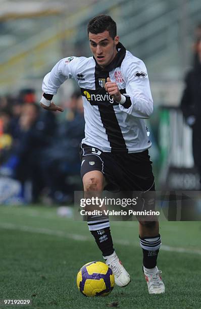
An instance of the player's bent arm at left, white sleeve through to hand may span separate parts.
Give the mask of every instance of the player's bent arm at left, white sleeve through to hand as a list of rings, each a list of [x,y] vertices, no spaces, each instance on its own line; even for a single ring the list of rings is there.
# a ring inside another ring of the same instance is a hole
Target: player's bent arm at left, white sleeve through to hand
[[[53,96],[57,93],[57,90],[65,82],[66,79],[72,77],[74,66],[76,63],[76,57],[69,57],[60,60],[52,69],[51,72],[45,75],[42,82],[43,95],[40,100],[40,105],[43,109],[48,111],[59,111],[64,110],[54,104],[52,101]]]

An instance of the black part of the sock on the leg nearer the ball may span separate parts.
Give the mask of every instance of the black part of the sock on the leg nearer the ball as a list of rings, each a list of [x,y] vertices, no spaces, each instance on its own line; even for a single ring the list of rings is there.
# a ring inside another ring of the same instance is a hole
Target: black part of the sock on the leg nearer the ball
[[[110,233],[110,228],[104,228],[97,231],[90,231],[98,248],[102,251],[103,256],[111,255],[114,252],[112,236]]]

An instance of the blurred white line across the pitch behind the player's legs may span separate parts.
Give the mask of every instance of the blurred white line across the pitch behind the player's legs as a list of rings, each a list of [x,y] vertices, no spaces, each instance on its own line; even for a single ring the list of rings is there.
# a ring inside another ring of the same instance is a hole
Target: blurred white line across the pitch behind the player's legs
[[[19,230],[23,232],[29,232],[29,233],[38,233],[38,234],[46,234],[46,235],[54,235],[54,236],[59,236],[59,237],[64,237],[68,239],[74,239],[74,240],[80,240],[80,241],[92,241],[92,237],[89,236],[84,236],[84,235],[79,235],[79,234],[71,234],[71,233],[66,233],[64,231],[59,231],[59,230],[51,230],[51,229],[46,229],[46,228],[34,228],[30,226],[19,226],[16,224],[12,223],[0,223],[0,228],[3,229],[8,229],[8,230]],[[137,243],[130,242],[128,240],[116,240],[115,243],[121,244],[121,245],[134,245],[138,246]],[[201,250],[192,250],[192,249],[187,249],[187,248],[181,248],[181,247],[170,247],[166,245],[161,246],[162,250],[165,251],[172,251],[172,252],[181,252],[181,253],[194,253],[194,254],[201,254]]]

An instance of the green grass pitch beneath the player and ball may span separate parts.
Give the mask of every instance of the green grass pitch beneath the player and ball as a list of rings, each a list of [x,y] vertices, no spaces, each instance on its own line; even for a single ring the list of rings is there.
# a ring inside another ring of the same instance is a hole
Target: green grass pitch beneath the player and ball
[[[201,222],[161,222],[158,267],[166,293],[148,295],[137,222],[112,222],[116,252],[131,275],[106,297],[77,289],[81,266],[103,261],[86,223],[57,216],[56,208],[0,207],[0,299],[32,299],[26,309],[201,308]]]

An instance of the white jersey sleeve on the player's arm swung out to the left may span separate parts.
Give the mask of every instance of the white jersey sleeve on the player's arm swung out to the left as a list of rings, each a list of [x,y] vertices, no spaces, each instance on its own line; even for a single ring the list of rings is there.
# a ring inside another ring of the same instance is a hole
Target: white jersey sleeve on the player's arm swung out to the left
[[[74,78],[78,59],[77,57],[61,59],[52,71],[45,75],[42,82],[42,91],[48,94],[56,94],[65,80]]]

